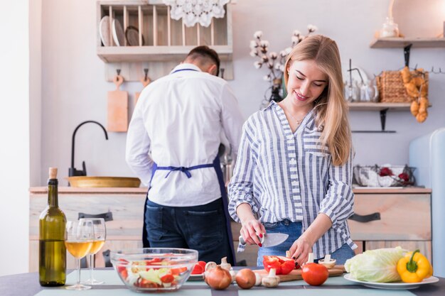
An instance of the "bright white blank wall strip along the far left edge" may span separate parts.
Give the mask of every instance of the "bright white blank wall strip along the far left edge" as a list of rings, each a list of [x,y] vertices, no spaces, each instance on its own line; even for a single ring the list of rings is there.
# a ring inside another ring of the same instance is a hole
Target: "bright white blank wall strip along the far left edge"
[[[0,9],[0,275],[28,270],[28,0]]]

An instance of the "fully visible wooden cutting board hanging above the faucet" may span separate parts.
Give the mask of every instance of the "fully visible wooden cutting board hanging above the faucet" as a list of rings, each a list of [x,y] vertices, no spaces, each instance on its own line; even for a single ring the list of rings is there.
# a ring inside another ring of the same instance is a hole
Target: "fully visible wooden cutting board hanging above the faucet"
[[[108,126],[107,131],[127,131],[128,129],[128,92],[119,89],[124,77],[113,78],[116,89],[108,92]]]

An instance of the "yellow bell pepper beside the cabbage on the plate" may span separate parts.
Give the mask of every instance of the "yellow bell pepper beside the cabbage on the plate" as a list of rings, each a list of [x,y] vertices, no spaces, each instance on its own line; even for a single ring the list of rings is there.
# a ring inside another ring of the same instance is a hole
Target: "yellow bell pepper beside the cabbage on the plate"
[[[416,250],[400,258],[397,262],[397,273],[404,283],[420,283],[433,274],[433,268],[427,257]]]

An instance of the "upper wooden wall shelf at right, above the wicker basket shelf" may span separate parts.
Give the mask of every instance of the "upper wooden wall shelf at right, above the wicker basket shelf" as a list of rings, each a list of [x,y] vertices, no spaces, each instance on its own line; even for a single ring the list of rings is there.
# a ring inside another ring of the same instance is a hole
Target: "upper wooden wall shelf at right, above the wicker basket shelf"
[[[372,40],[370,48],[404,48],[409,44],[412,48],[445,48],[445,38],[378,38]]]

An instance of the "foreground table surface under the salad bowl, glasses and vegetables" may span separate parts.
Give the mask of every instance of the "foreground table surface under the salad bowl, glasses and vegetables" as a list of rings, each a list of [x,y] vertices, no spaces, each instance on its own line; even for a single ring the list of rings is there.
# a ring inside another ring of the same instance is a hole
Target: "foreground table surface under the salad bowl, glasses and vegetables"
[[[239,269],[239,268],[235,268]],[[252,268],[254,269],[254,268]],[[82,270],[82,277],[87,276],[87,270]],[[124,287],[124,284],[117,277],[117,273],[112,268],[105,268],[95,271],[97,280],[105,280],[104,285],[93,286],[87,291],[69,291],[64,287],[45,288],[38,284],[38,273],[23,273],[18,275],[8,275],[0,277],[1,296],[69,296],[69,295],[89,295],[89,296],[124,296],[138,295]],[[83,279],[83,278],[82,278]],[[75,272],[68,274],[67,284],[75,282]],[[26,283],[26,284],[24,284]],[[149,294],[147,294],[149,295]],[[156,293],[151,293],[156,295]],[[307,285],[303,280],[296,280],[280,283],[277,288],[252,287],[250,290],[241,290],[237,285],[231,285],[226,290],[212,290],[202,280],[188,281],[178,292],[171,292],[166,295],[193,295],[193,296],[246,296],[246,295],[299,295],[299,296],[442,296],[445,295],[445,278],[439,278],[438,283],[421,285],[414,290],[381,290],[355,285],[355,283],[345,280],[343,277],[328,278],[321,286],[313,287]]]

